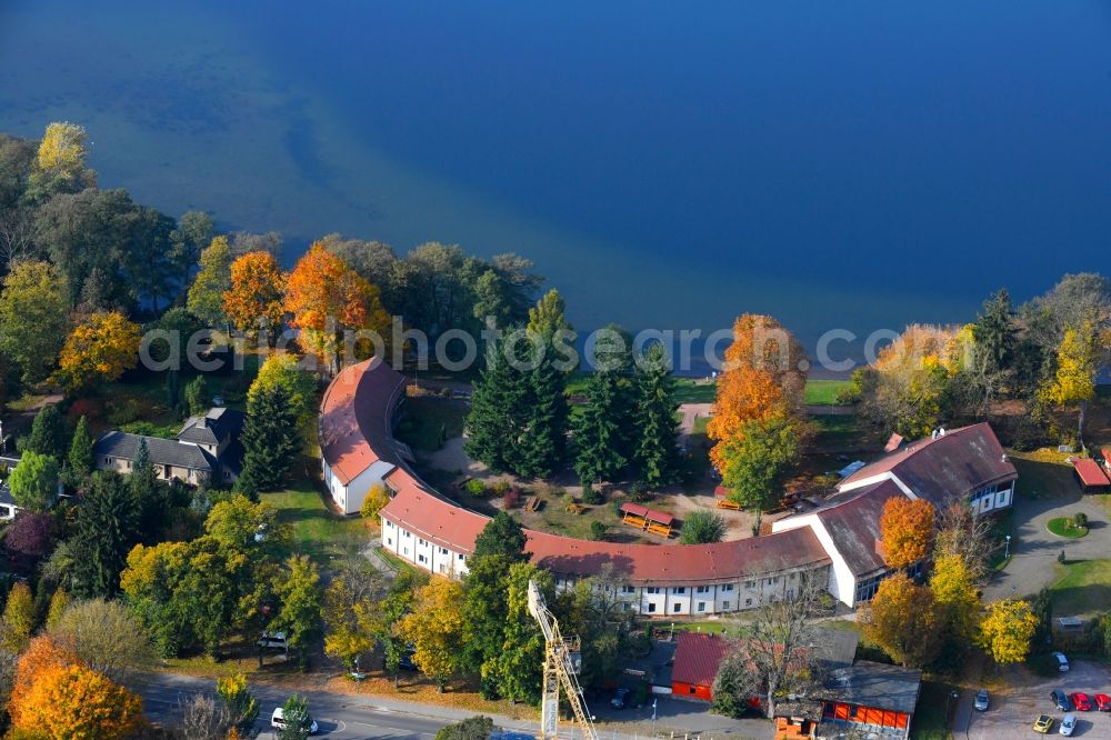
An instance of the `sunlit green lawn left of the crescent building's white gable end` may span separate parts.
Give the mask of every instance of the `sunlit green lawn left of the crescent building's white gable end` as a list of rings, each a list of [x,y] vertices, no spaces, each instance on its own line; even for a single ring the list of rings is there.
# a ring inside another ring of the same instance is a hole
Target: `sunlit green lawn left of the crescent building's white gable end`
[[[279,511],[293,528],[293,549],[317,562],[327,562],[351,542],[364,543],[368,523],[360,517],[340,517],[324,506],[316,486],[307,478],[293,481],[284,491],[263,493],[262,500]]]

